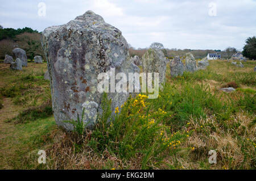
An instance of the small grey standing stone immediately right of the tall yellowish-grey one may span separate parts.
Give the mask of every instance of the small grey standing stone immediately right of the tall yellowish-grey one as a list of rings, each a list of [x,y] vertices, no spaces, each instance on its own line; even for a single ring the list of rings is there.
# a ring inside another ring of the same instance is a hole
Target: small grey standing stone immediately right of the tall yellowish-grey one
[[[171,76],[177,77],[178,75],[183,75],[185,71],[185,66],[180,60],[179,56],[174,57],[170,62]]]

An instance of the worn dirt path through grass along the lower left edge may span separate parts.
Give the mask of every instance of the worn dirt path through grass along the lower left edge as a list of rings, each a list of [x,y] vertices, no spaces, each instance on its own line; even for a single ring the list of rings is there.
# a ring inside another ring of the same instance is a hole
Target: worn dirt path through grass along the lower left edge
[[[11,160],[16,149],[15,124],[6,123],[7,119],[18,115],[19,106],[15,106],[11,98],[3,99],[3,108],[0,109],[0,169],[13,169]]]

